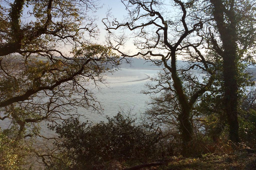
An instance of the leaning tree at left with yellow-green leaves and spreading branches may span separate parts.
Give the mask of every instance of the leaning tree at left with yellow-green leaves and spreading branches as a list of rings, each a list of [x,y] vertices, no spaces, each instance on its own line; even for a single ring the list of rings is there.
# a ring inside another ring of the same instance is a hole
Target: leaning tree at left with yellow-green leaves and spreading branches
[[[11,120],[15,140],[41,136],[39,122],[58,123],[78,115],[77,107],[100,112],[91,89],[119,62],[86,38],[97,37],[90,14],[99,7],[94,0],[1,1],[0,119]]]

